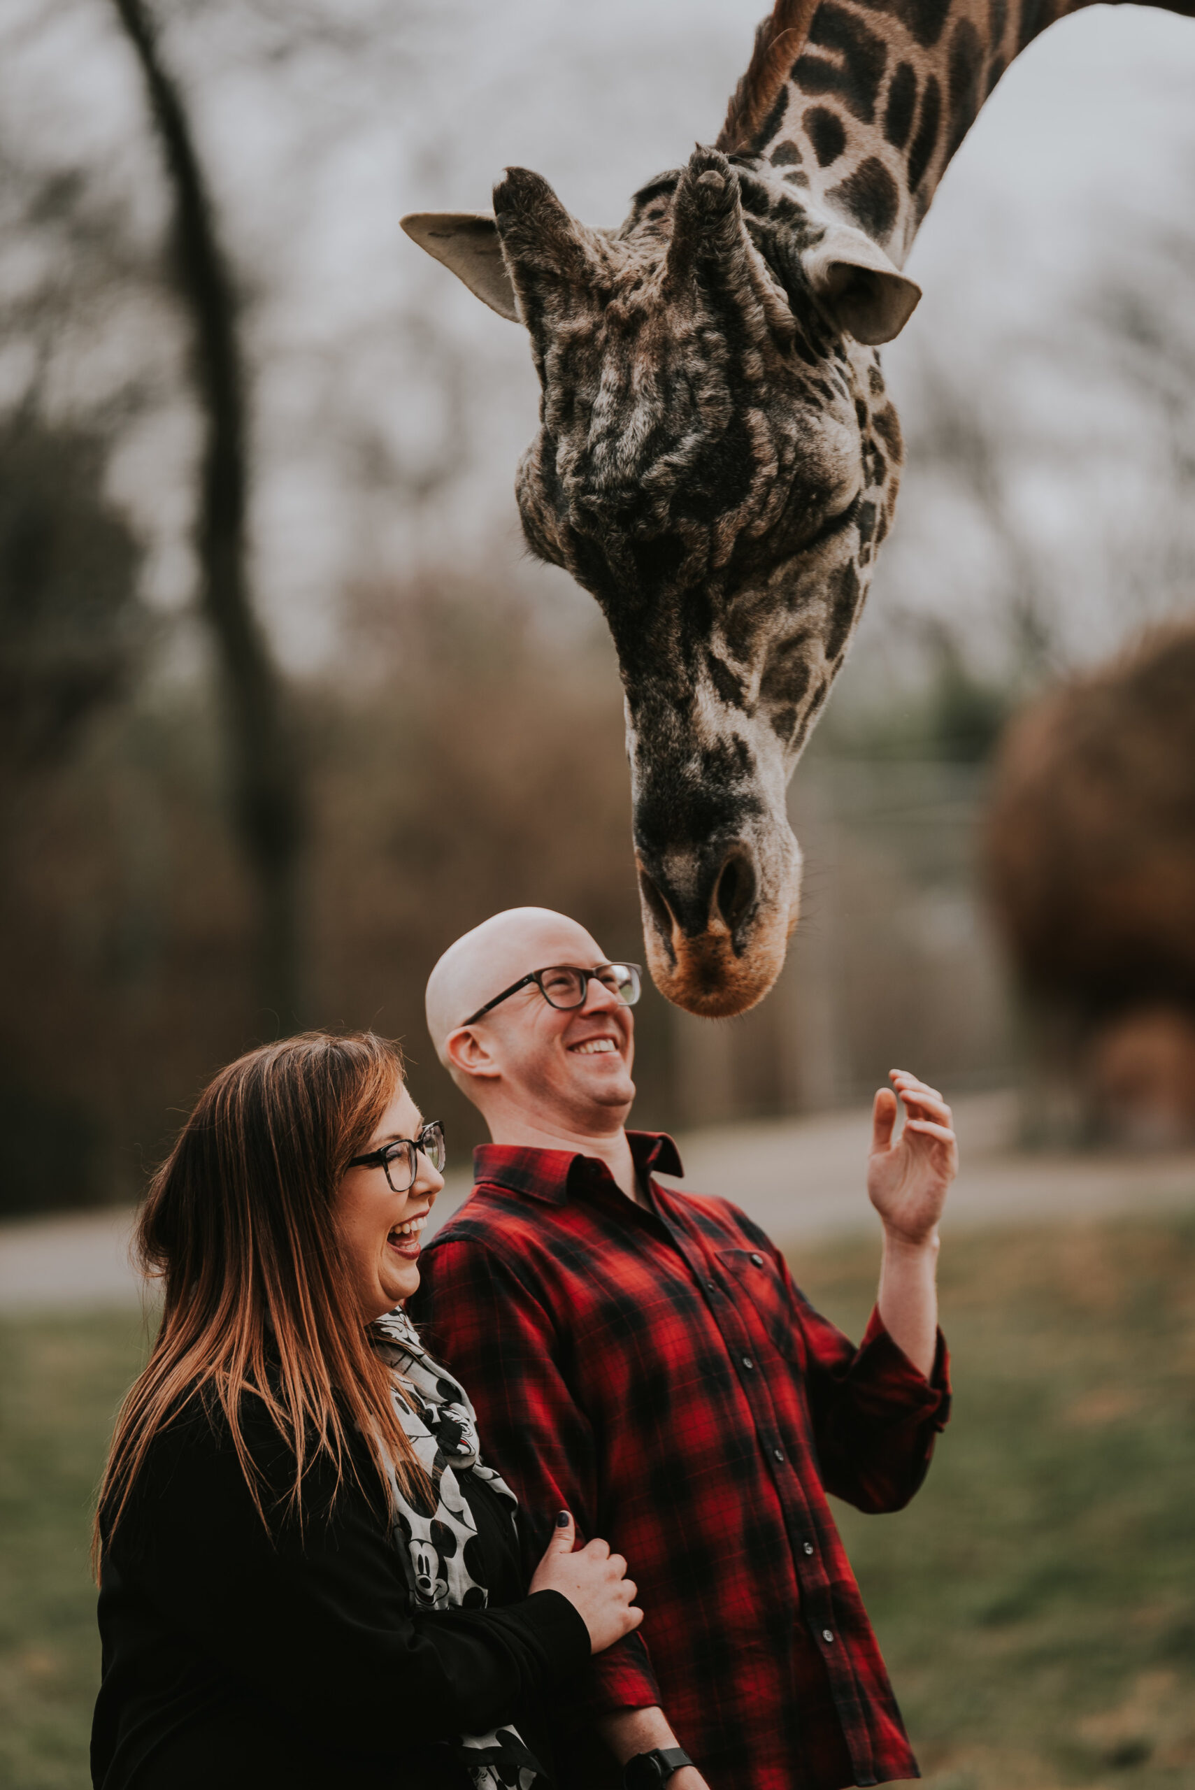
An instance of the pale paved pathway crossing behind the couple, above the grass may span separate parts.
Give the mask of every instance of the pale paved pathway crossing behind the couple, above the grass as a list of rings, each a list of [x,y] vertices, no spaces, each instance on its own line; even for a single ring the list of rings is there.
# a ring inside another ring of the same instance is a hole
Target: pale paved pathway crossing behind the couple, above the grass
[[[1195,1210],[1195,1151],[1174,1156],[1025,1155],[1014,1149],[1014,1099],[955,1103],[962,1171],[946,1232],[959,1226],[1054,1223],[1150,1210]],[[694,1131],[680,1138],[682,1187],[725,1194],[780,1242],[875,1228],[864,1192],[869,1113],[821,1113]],[[436,1203],[442,1224],[469,1194],[453,1176]],[[0,1224],[0,1310],[132,1305],[141,1282],[129,1264],[127,1210]]]

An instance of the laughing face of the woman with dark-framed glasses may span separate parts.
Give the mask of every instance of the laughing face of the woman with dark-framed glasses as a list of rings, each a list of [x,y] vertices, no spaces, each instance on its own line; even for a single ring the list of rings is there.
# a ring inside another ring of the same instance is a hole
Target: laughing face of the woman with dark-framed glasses
[[[399,1083],[374,1135],[358,1155],[365,1156],[399,1137],[417,1138],[422,1122],[415,1101]],[[444,1176],[422,1151],[417,1162],[419,1174],[406,1194],[392,1192],[381,1165],[345,1169],[340,1183],[336,1217],[365,1323],[381,1317],[401,1300],[410,1300],[419,1285],[419,1233],[444,1187]],[[397,1172],[395,1180],[401,1181]]]

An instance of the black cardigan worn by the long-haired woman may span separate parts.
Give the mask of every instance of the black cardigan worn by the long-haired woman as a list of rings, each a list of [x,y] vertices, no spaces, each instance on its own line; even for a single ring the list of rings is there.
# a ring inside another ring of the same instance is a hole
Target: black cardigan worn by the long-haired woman
[[[293,1457],[256,1400],[243,1427],[286,1486]],[[420,1611],[360,1439],[354,1462],[365,1491],[347,1473],[329,1516],[320,1464],[304,1534],[270,1538],[220,1423],[191,1411],[154,1437],[102,1559],[97,1790],[470,1790],[445,1742],[504,1722],[542,1756],[540,1699],[589,1659],[580,1615],[558,1591],[519,1597],[508,1507],[469,1471],[490,1597],[519,1600]]]

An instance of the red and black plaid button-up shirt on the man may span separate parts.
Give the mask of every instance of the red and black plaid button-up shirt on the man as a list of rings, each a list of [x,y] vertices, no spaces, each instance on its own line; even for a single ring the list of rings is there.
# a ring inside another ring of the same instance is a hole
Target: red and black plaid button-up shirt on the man
[[[630,1142],[651,1210],[594,1156],[478,1149],[411,1316],[533,1548],[569,1509],[630,1561],[649,1658],[635,1634],[592,1661],[592,1713],[662,1704],[712,1790],[916,1777],[826,1493],[909,1502],[946,1421],[945,1344],[928,1382],[878,1314],[855,1348],[737,1206],[649,1180],[682,1172],[671,1138]],[[560,1765],[590,1776],[581,1752]]]

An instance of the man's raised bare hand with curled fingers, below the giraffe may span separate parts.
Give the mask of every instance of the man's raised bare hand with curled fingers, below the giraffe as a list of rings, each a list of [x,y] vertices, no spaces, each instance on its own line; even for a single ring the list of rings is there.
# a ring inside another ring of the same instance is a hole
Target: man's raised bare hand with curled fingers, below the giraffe
[[[907,1069],[893,1069],[891,1081],[891,1088],[878,1090],[871,1112],[868,1198],[891,1237],[920,1246],[934,1235],[946,1189],[959,1172],[959,1144],[937,1088]],[[905,1104],[905,1124],[894,1140],[896,1095]]]

